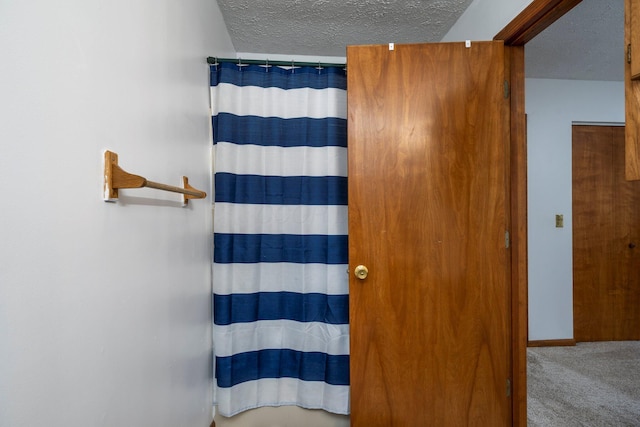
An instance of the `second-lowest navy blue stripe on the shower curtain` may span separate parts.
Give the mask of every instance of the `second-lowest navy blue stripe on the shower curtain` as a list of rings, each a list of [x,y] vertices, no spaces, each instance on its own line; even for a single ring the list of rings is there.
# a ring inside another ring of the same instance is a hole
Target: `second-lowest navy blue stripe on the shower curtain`
[[[349,322],[347,295],[259,292],[213,296],[216,325],[288,319],[297,322],[346,324]]]

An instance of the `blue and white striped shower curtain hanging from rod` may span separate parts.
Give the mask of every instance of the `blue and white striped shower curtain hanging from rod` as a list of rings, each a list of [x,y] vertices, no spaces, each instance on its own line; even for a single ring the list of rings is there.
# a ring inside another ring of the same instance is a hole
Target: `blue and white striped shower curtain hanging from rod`
[[[211,65],[218,412],[349,413],[346,75]]]

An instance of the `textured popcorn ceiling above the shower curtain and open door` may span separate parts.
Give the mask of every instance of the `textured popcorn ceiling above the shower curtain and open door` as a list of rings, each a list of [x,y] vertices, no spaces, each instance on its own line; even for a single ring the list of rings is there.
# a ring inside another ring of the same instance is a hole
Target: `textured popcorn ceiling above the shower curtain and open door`
[[[352,44],[440,41],[471,0],[218,0],[238,52],[346,56]]]

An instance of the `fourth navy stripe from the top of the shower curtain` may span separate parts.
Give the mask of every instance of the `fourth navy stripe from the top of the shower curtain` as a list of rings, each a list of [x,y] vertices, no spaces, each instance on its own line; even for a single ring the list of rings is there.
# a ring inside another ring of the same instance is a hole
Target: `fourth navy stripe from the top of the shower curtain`
[[[346,264],[347,236],[214,233],[213,261]]]

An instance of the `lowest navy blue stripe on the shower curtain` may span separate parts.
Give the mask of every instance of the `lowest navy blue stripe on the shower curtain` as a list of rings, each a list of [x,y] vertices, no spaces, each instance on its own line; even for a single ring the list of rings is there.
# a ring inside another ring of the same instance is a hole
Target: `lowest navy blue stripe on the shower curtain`
[[[217,360],[216,378],[220,387],[232,387],[260,378],[299,378],[349,385],[349,356],[288,349],[252,351]]]

